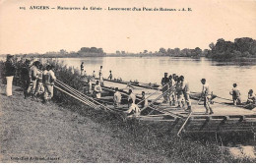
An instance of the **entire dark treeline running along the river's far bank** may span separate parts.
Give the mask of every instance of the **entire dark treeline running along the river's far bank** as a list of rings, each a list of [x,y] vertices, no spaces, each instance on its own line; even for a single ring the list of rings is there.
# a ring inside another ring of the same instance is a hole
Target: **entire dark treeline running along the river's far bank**
[[[45,54],[16,54],[21,57],[38,57],[38,58],[69,58],[69,57],[102,57],[102,56],[170,56],[170,57],[207,57],[215,60],[239,60],[256,58],[256,40],[249,37],[235,38],[234,42],[225,41],[223,38],[209,44],[210,49],[202,50],[199,47],[190,48],[160,48],[159,51],[144,50],[139,53],[128,53],[126,51],[116,51],[115,53],[106,54],[102,48],[82,47],[79,51],[67,52],[61,49],[59,52],[46,52]]]

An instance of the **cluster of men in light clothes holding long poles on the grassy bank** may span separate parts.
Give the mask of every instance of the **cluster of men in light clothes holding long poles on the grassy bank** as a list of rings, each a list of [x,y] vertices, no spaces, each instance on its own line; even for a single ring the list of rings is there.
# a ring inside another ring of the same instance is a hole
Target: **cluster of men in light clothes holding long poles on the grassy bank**
[[[25,61],[21,69],[21,80],[23,83],[24,96],[38,99],[41,96],[43,102],[49,101],[53,96],[53,85],[56,77],[54,67],[47,65],[45,69],[39,61],[31,63]]]

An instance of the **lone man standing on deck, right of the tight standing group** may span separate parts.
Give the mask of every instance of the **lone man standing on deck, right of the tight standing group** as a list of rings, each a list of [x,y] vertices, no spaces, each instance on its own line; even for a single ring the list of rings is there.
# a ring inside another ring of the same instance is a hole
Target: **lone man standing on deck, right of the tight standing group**
[[[206,108],[206,114],[213,114],[213,109],[211,108],[210,105],[210,100],[212,98],[212,91],[210,90],[210,86],[208,83],[206,83],[206,79],[202,79],[201,83],[203,84],[203,89],[202,89],[202,93],[201,93],[201,98],[204,98],[204,106]]]

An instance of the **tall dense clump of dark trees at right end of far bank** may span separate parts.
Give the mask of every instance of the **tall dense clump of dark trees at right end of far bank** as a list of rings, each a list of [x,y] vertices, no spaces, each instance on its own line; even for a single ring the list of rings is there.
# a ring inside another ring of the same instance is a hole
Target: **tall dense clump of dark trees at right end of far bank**
[[[208,51],[206,57],[229,60],[239,58],[256,58],[256,40],[249,37],[235,38],[234,42],[225,41],[223,38],[209,45],[211,50]]]

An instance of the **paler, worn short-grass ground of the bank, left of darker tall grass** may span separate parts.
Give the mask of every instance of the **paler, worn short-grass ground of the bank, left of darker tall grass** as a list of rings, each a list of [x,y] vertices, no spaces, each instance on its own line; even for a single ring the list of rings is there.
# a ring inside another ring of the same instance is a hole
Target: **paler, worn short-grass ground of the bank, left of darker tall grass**
[[[0,94],[1,162],[171,162],[71,110]]]

